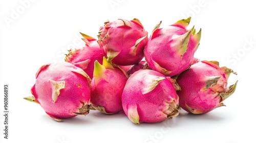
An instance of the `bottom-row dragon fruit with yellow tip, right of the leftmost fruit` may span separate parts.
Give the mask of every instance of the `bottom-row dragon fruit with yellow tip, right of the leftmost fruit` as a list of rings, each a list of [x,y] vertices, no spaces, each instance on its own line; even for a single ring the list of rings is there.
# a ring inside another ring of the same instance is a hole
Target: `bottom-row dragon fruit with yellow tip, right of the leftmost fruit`
[[[95,61],[92,79],[92,106],[103,113],[122,111],[122,92],[128,79],[126,71],[103,57],[103,65]]]

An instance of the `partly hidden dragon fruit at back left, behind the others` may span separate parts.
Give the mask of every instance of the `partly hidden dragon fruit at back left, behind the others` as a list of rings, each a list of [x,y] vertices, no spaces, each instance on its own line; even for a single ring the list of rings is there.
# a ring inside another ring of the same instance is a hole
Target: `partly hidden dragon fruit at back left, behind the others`
[[[80,33],[86,42],[81,49],[71,49],[66,55],[65,61],[82,68],[90,78],[93,78],[94,61],[97,60],[102,64],[103,52],[96,39],[86,34]]]

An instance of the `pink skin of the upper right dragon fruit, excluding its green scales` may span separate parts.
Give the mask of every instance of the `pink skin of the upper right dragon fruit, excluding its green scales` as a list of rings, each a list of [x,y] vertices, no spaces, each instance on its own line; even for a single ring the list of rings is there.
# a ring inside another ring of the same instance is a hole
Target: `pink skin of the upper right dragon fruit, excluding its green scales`
[[[154,38],[152,38],[151,35],[144,50],[144,56],[148,66],[153,70],[161,72],[160,69],[155,66],[154,60],[162,68],[172,71],[172,73],[167,75],[162,73],[169,77],[178,75],[187,69],[193,61],[194,53],[196,52],[195,47],[197,42],[193,38],[193,34],[190,35],[187,51],[182,58],[177,55],[177,49],[171,46],[171,43],[173,43],[172,37],[174,35],[183,35],[187,32],[188,30],[177,26],[168,26],[156,30],[154,32]]]

